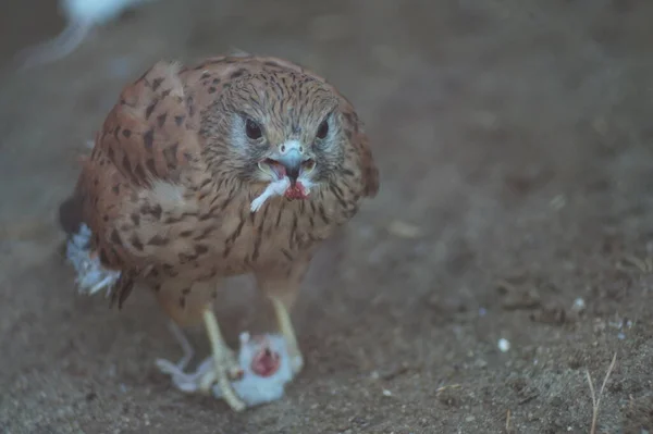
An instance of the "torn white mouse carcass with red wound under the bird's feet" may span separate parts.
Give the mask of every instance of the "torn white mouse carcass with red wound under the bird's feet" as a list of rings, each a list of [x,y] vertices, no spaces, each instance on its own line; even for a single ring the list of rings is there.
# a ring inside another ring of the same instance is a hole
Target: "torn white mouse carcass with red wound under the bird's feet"
[[[192,358],[193,349],[181,331],[175,331],[175,328],[173,326],[173,333],[184,348],[184,357],[178,363],[158,359],[157,367],[172,377],[173,384],[180,390],[198,393],[201,390],[201,383],[207,374],[210,375],[213,370],[213,358],[206,358],[195,372],[184,372]],[[286,383],[293,380],[287,347],[281,335],[264,334],[251,337],[249,333],[242,333],[238,364],[242,369],[242,376],[232,385],[236,395],[248,407],[280,399],[284,394]],[[222,398],[218,383],[213,384],[211,392],[215,398]]]

